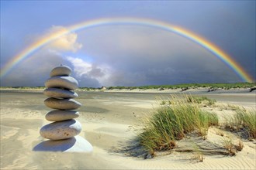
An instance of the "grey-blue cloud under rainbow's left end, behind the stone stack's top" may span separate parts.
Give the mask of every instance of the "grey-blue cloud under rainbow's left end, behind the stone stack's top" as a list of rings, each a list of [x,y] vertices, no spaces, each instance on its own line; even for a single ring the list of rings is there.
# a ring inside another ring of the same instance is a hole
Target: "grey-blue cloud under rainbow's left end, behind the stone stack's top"
[[[3,77],[1,86],[43,87],[44,82],[50,78],[50,71],[61,64],[70,66],[74,70],[73,64],[65,57],[50,50],[41,50],[40,53],[36,53],[36,55],[23,61],[8,76]],[[94,67],[92,73],[88,75],[79,76],[75,72],[71,73],[71,76],[78,80],[79,87],[99,87],[99,81],[90,75],[102,76],[102,72]]]

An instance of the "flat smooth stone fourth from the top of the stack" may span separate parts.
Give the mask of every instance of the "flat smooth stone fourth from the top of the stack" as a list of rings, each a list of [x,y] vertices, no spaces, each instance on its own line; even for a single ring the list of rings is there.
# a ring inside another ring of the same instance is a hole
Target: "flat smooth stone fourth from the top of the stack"
[[[73,99],[56,99],[56,98],[47,98],[44,100],[44,104],[47,107],[52,109],[59,109],[59,110],[74,110],[81,107],[81,104]]]

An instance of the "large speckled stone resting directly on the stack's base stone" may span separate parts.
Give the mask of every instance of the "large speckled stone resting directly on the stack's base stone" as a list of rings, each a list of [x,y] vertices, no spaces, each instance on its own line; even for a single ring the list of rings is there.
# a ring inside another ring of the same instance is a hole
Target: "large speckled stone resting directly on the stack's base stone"
[[[72,138],[81,132],[81,124],[74,119],[68,121],[57,121],[47,124],[40,129],[43,138],[61,140]]]

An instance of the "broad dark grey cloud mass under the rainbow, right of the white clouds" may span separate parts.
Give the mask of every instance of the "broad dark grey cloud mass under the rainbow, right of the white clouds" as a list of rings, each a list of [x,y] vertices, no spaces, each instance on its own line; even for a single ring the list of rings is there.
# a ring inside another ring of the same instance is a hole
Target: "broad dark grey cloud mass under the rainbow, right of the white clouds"
[[[109,79],[102,85],[240,80],[208,50],[171,32],[138,26],[108,26],[87,31],[81,39],[86,39],[85,52],[95,63],[112,67]]]

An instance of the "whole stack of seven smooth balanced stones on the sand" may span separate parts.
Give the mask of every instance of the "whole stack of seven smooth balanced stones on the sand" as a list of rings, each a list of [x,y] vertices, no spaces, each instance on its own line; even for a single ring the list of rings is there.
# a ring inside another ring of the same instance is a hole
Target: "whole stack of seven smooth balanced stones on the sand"
[[[81,104],[72,99],[78,97],[78,93],[73,91],[78,88],[78,81],[70,76],[71,72],[68,66],[57,66],[45,82],[47,89],[43,93],[49,98],[44,100],[44,104],[55,109],[48,112],[45,118],[54,122],[40,129],[40,135],[50,140],[36,145],[33,151],[92,152],[92,145],[78,136],[81,124],[74,118],[79,117],[75,109]]]

